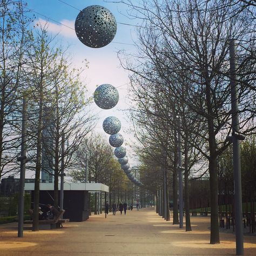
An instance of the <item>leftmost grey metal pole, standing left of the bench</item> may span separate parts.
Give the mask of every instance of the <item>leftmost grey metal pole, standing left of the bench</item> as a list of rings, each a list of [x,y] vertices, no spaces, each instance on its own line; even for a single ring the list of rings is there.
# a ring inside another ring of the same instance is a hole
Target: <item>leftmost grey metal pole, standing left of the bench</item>
[[[27,113],[27,98],[23,96],[22,107],[22,144],[21,144],[21,174],[19,180],[19,204],[18,204],[18,237],[23,237],[23,218],[24,218],[24,185],[25,185],[25,168],[26,168],[26,121]]]

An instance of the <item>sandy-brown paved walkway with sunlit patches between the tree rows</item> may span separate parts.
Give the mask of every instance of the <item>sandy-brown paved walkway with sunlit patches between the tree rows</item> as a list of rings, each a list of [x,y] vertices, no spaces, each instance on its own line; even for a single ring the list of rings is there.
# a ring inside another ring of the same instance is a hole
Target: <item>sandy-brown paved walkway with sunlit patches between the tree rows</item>
[[[0,255],[234,255],[233,233],[220,233],[221,243],[210,245],[210,218],[191,217],[192,232],[165,221],[154,208],[92,215],[60,230],[24,230],[17,224],[0,226]],[[256,255],[256,236],[245,235],[245,255]]]

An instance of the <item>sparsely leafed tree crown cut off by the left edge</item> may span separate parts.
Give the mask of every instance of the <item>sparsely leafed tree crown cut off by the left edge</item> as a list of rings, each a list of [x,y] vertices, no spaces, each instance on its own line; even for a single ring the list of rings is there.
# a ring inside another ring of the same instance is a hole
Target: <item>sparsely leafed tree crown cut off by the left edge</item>
[[[22,92],[24,92],[24,54],[31,44],[21,0],[0,3],[0,179],[17,169],[20,144]]]

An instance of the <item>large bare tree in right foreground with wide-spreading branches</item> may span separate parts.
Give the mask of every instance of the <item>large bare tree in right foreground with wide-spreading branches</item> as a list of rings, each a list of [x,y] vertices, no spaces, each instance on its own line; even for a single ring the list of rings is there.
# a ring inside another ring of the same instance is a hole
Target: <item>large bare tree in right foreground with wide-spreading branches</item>
[[[138,34],[140,56],[134,62],[136,65],[126,65],[125,68],[145,80],[149,76],[161,77],[163,83],[169,86],[173,98],[184,102],[194,113],[191,120],[203,131],[194,135],[205,140],[206,146],[201,147],[201,144],[191,140],[190,143],[208,160],[211,244],[219,242],[217,157],[229,144],[226,140],[217,140],[217,137],[231,131],[228,46],[230,39],[239,39],[239,56],[247,56],[248,48],[242,42],[244,39],[247,42],[248,31],[251,32],[253,26],[252,19],[246,19],[249,14],[246,9],[234,15],[237,6],[224,2],[142,1],[137,6],[131,1],[125,2],[136,10],[133,14],[136,13],[136,17],[144,21]],[[245,65],[242,64],[239,62],[239,71],[244,76],[240,76],[239,82],[246,86],[241,86],[240,90],[240,126],[243,132],[250,132],[254,129],[250,122],[255,116],[252,92],[254,66],[250,68],[247,65],[249,70],[245,73]],[[185,86],[185,97],[177,85]]]

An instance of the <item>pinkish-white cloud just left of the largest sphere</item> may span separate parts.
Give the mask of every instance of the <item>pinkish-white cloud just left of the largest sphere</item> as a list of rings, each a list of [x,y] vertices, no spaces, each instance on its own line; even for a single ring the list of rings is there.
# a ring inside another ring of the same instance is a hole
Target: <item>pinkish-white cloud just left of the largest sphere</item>
[[[76,32],[74,28],[75,21],[69,21],[68,19],[63,19],[60,21],[62,24],[52,23],[46,21],[45,19],[39,18],[35,21],[35,24],[41,24],[42,26],[46,25],[47,31],[59,34],[64,37],[76,38]]]

